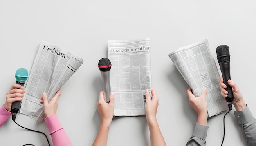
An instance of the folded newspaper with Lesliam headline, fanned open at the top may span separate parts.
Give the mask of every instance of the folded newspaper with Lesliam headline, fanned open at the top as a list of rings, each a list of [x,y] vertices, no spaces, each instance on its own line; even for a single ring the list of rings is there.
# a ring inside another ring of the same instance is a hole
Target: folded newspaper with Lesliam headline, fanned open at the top
[[[20,113],[42,122],[45,118],[39,99],[43,92],[48,101],[83,64],[83,59],[73,52],[42,41],[32,65]]]

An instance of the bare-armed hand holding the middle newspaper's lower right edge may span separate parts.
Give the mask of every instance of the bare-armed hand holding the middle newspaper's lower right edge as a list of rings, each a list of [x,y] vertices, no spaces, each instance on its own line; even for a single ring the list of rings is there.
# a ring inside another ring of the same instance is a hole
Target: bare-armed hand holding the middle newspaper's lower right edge
[[[152,99],[150,99],[149,91],[146,89],[146,103],[145,103],[145,112],[147,120],[156,118],[157,107],[159,104],[159,99],[155,89],[151,89]]]

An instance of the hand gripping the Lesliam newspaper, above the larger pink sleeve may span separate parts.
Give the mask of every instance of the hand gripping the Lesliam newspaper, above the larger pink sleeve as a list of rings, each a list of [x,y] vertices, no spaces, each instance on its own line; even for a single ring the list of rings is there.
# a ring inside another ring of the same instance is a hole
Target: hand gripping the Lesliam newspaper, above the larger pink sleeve
[[[43,93],[43,97],[39,99],[39,102],[44,105],[44,113],[46,117],[56,114],[58,108],[58,97],[61,96],[61,89],[52,97],[48,102],[48,97],[46,93]]]

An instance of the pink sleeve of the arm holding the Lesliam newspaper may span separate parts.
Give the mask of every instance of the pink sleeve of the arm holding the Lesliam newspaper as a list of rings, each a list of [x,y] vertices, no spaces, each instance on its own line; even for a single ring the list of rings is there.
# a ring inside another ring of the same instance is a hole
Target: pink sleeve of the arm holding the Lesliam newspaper
[[[46,117],[45,123],[52,136],[54,146],[73,146],[56,114]]]

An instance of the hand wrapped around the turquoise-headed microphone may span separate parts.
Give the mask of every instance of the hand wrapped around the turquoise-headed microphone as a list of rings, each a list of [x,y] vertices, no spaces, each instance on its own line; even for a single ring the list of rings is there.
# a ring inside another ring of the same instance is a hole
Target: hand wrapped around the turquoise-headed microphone
[[[13,84],[10,90],[6,93],[4,108],[7,111],[11,111],[11,104],[16,101],[21,101],[25,92],[26,91],[24,90],[23,86]]]

